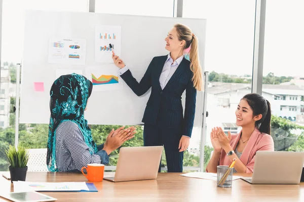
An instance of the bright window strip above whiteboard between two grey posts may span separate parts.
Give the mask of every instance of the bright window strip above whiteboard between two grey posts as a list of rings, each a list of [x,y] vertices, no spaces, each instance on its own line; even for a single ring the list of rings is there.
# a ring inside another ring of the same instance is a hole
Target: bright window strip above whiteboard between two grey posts
[[[98,0],[96,13],[173,17],[174,0]]]

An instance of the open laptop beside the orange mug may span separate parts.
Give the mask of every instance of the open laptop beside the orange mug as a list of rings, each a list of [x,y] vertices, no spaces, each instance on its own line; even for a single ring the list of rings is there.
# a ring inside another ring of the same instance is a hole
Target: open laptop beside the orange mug
[[[112,176],[106,172],[103,179],[122,182],[156,179],[161,163],[163,146],[122,147],[116,172]]]

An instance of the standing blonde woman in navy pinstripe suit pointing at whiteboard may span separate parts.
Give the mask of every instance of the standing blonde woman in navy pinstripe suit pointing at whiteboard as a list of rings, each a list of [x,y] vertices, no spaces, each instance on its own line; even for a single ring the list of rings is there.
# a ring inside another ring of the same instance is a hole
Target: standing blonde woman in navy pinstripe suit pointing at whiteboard
[[[121,78],[136,95],[143,95],[151,88],[142,119],[144,146],[164,145],[168,172],[182,172],[183,151],[189,145],[194,124],[196,94],[203,88],[202,68],[198,38],[189,27],[174,25],[165,41],[170,53],[154,57],[139,83],[119,56],[113,54],[112,59],[121,68]],[[183,51],[190,46],[188,61]],[[184,91],[183,114],[181,95]]]

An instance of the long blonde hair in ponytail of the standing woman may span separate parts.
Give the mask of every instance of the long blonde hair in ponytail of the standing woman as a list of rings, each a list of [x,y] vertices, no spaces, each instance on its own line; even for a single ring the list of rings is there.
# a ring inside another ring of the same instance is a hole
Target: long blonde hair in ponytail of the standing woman
[[[198,38],[192,33],[191,29],[183,24],[174,25],[176,28],[179,40],[185,40],[185,48],[188,48],[191,45],[189,59],[190,69],[193,72],[193,86],[199,90],[203,90],[203,75],[202,75],[202,67],[199,61],[199,43]]]

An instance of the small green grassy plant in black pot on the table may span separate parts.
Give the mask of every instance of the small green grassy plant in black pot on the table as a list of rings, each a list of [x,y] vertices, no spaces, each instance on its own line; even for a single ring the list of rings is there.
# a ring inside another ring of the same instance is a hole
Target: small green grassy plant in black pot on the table
[[[29,158],[27,148],[18,145],[18,148],[16,149],[15,146],[9,145],[5,150],[5,154],[10,163],[9,170],[11,173],[11,182],[18,180],[25,181]]]

